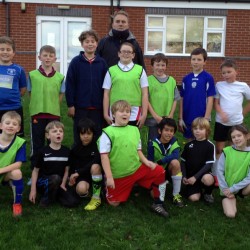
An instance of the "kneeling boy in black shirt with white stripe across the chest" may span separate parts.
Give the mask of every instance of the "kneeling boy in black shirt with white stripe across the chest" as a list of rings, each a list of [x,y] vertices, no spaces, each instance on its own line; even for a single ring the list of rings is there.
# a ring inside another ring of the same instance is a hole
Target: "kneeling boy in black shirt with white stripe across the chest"
[[[41,194],[40,205],[47,207],[59,198],[60,189],[66,191],[70,150],[62,145],[64,126],[59,121],[48,123],[46,138],[50,141],[38,154],[32,171],[29,200],[35,204],[37,192]]]

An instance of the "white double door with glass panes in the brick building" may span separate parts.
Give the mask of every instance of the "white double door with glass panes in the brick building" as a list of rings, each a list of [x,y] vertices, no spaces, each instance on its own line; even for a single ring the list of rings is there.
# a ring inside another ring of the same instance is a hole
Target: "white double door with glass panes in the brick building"
[[[91,18],[37,16],[37,55],[43,45],[55,47],[55,68],[66,75],[71,59],[83,50],[79,35],[90,28]],[[39,65],[37,58],[37,68]]]

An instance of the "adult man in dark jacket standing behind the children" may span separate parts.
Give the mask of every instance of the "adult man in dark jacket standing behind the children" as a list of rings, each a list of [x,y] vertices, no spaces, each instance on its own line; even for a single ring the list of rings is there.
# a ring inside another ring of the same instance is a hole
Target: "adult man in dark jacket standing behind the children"
[[[109,31],[108,35],[100,40],[96,53],[106,60],[108,67],[111,67],[119,61],[118,51],[123,42],[133,44],[135,48],[135,57],[133,61],[145,69],[142,50],[134,35],[129,30],[128,13],[120,10],[114,14],[112,29]]]

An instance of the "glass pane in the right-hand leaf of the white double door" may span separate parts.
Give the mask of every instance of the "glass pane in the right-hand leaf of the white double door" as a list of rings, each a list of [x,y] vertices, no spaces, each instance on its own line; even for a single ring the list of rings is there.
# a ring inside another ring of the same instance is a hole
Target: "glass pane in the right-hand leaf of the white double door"
[[[86,23],[83,22],[68,22],[68,53],[67,60],[71,60],[74,56],[83,50],[78,40],[81,32],[87,30]]]

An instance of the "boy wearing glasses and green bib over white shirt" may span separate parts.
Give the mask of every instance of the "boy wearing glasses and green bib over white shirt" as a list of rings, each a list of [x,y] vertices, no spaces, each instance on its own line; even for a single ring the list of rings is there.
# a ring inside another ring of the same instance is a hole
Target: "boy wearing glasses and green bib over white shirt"
[[[132,107],[129,125],[141,128],[148,111],[148,80],[142,66],[133,63],[134,47],[125,42],[120,46],[117,65],[106,73],[103,89],[103,113],[107,123],[112,124],[110,107],[118,100],[126,100]]]

